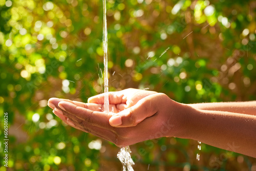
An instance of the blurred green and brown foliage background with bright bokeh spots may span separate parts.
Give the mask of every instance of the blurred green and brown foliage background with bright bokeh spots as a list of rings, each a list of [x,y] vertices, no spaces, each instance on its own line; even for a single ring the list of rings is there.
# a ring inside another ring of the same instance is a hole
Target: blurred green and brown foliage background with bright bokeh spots
[[[255,1],[109,0],[107,9],[111,91],[150,89],[183,103],[256,99]],[[8,170],[121,169],[118,147],[46,106],[51,97],[86,102],[102,92],[102,11],[98,0],[0,0],[0,152],[3,159],[7,112]],[[94,140],[100,150],[88,147]],[[134,168],[256,170],[251,157],[197,145],[137,143]]]

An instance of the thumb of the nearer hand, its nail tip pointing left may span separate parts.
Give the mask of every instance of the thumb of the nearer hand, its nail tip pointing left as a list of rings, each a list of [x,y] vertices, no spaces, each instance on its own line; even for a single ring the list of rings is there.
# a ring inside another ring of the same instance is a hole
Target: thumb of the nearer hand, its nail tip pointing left
[[[113,115],[109,120],[110,125],[114,127],[136,126],[144,119],[153,116],[157,112],[157,108],[154,108],[154,98],[150,96],[139,100],[131,108]]]

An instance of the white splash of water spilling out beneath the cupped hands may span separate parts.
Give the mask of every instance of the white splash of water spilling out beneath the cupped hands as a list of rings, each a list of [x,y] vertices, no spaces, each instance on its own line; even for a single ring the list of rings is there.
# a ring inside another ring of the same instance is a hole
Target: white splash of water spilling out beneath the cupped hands
[[[134,171],[132,165],[134,165],[134,161],[131,157],[131,149],[129,146],[122,147],[120,152],[117,154],[117,158],[123,164],[123,171]]]

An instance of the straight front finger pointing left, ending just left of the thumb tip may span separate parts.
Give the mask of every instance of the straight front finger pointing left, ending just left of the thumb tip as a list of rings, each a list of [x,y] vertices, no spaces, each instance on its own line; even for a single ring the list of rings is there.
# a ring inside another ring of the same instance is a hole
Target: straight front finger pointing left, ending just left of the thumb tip
[[[109,119],[112,116],[111,114],[81,108],[80,106],[77,106],[67,101],[59,102],[58,106],[63,111],[71,114],[72,118],[74,120],[77,120],[78,122],[82,120],[94,126],[102,127],[109,130],[111,129],[111,126],[109,124]]]

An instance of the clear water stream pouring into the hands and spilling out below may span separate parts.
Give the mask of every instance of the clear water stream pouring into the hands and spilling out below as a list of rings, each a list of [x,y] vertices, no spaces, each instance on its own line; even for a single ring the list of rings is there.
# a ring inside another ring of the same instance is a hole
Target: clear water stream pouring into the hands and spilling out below
[[[108,30],[106,28],[106,0],[103,0],[103,52],[104,52],[104,111],[109,113],[109,78],[108,78]],[[129,146],[122,147],[117,158],[123,164],[123,171],[134,171]]]

